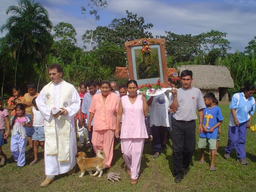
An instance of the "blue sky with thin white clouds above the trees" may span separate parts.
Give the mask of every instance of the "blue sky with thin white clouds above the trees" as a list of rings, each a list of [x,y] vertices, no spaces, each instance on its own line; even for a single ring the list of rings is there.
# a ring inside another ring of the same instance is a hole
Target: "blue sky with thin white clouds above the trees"
[[[76,29],[78,46],[81,36],[92,29],[93,18],[82,14],[89,0],[34,0],[48,10],[53,26],[59,22],[70,23]],[[107,0],[106,10],[99,12],[96,26],[107,26],[114,18],[126,17],[126,10],[144,17],[145,23],[154,26],[149,31],[153,36],[175,34],[198,35],[211,30],[228,33],[226,39],[231,50],[244,51],[248,42],[256,36],[256,0]],[[6,23],[8,6],[18,6],[18,0],[0,0],[0,25]],[[86,17],[86,18],[85,18]],[[3,37],[6,31],[0,33]]]

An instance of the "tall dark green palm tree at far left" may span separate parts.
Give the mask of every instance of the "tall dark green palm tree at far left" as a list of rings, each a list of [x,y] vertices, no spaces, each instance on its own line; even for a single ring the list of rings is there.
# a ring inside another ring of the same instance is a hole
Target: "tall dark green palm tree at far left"
[[[1,26],[1,32],[8,31],[4,37],[4,49],[7,51],[5,54],[12,52],[14,59],[11,62],[14,72],[6,79],[14,79],[13,85],[23,87],[25,83],[37,79],[34,76],[37,68],[45,64],[45,57],[53,42],[50,35],[52,23],[48,11],[40,3],[31,3],[30,0],[20,0],[18,6],[8,7],[6,14],[13,15]]]

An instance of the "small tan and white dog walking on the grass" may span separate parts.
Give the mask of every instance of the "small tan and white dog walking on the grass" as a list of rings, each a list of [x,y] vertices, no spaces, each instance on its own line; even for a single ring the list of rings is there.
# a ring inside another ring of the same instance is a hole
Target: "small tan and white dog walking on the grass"
[[[99,174],[98,177],[102,176],[102,170],[105,169],[105,152],[99,150],[97,152],[97,157],[87,158],[84,152],[79,152],[76,154],[76,162],[81,170],[82,177],[85,174],[85,171],[88,171],[91,176],[96,176]],[[92,170],[96,169],[95,174],[92,174]]]

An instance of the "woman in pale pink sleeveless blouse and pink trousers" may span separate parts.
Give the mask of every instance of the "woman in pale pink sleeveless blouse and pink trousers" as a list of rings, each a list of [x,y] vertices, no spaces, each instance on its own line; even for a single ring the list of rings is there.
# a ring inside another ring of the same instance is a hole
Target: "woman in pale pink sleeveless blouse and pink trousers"
[[[115,136],[119,137],[120,119],[123,113],[121,150],[127,166],[126,172],[131,175],[131,184],[134,185],[137,184],[139,176],[144,140],[148,138],[144,116],[149,113],[149,106],[146,95],[137,95],[138,85],[135,80],[129,80],[126,89],[129,95],[123,96],[120,100]]]

